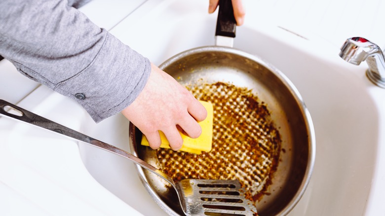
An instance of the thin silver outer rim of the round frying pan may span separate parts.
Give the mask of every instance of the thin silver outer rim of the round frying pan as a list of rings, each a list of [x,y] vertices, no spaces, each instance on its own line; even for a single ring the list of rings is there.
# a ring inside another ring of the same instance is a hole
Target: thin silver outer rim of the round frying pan
[[[287,215],[299,202],[299,200],[302,198],[304,195],[309,181],[311,179],[313,169],[314,169],[314,164],[315,164],[315,152],[316,152],[316,145],[315,145],[315,131],[314,131],[314,125],[311,119],[310,112],[308,111],[308,108],[306,107],[306,104],[298,91],[298,89],[295,87],[295,85],[291,82],[291,80],[280,70],[269,64],[267,61],[264,59],[256,56],[249,54],[247,52],[244,52],[242,50],[232,48],[232,47],[224,47],[224,46],[201,46],[201,47],[196,47],[192,48],[189,50],[186,50],[184,52],[178,53],[165,62],[163,62],[159,68],[163,70],[164,68],[167,68],[169,65],[172,65],[176,61],[183,59],[185,57],[188,57],[193,54],[198,54],[198,53],[203,53],[203,52],[226,52],[226,53],[231,53],[235,55],[239,55],[243,58],[250,59],[251,61],[257,62],[258,64],[262,65],[266,69],[268,69],[270,72],[274,73],[277,78],[279,78],[282,83],[285,85],[285,87],[290,91],[291,95],[294,97],[296,104],[298,105],[298,108],[300,109],[301,113],[303,114],[304,122],[306,123],[305,128],[308,132],[308,161],[307,161],[307,166],[306,166],[306,171],[304,174],[304,178],[301,181],[300,187],[293,196],[293,198],[288,202],[288,204],[278,213],[278,215]],[[136,142],[135,142],[135,137],[134,137],[134,131],[135,131],[135,126],[130,122],[129,125],[129,132],[130,132],[130,147],[131,147],[131,152],[137,155],[137,148],[136,148]],[[158,204],[158,206],[161,207],[168,215],[175,215],[177,216],[178,214],[174,212],[171,208],[167,206],[166,203],[163,202],[163,200],[158,196],[158,194],[154,191],[154,188],[151,187],[150,183],[148,182],[143,169],[136,165],[136,169],[138,172],[138,176],[140,180],[142,181],[143,185],[145,186],[146,190],[150,193],[154,201]]]

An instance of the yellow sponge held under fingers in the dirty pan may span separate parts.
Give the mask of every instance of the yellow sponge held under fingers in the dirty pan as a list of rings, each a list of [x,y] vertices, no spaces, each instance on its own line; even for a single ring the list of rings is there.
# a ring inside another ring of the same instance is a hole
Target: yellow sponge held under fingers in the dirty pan
[[[180,149],[181,151],[186,151],[190,153],[200,154],[202,151],[210,151],[211,144],[213,140],[213,105],[209,102],[199,101],[204,108],[207,110],[207,117],[203,121],[199,122],[200,127],[202,128],[202,134],[196,138],[192,139],[189,136],[184,135],[182,132],[179,132],[183,139],[183,145]],[[162,144],[161,148],[170,148],[170,144],[166,139],[166,136],[163,132],[159,131],[160,140]],[[142,145],[149,146],[149,141],[146,136],[142,136]]]

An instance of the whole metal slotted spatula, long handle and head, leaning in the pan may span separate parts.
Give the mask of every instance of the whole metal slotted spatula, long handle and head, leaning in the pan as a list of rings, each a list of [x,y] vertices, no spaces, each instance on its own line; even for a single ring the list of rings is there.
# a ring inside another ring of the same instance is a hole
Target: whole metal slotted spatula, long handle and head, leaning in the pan
[[[247,200],[238,180],[181,180],[175,183],[170,177],[140,158],[106,144],[75,130],[67,128],[33,112],[0,100],[0,114],[44,128],[66,137],[94,145],[123,156],[168,181],[178,193],[183,212],[186,215],[257,215],[251,201]]]

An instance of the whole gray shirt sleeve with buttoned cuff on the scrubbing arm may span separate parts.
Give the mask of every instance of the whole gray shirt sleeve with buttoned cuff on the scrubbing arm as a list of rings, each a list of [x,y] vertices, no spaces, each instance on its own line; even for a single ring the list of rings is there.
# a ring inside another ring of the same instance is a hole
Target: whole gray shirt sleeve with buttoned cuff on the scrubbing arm
[[[99,122],[128,107],[151,64],[65,0],[1,0],[0,55]]]

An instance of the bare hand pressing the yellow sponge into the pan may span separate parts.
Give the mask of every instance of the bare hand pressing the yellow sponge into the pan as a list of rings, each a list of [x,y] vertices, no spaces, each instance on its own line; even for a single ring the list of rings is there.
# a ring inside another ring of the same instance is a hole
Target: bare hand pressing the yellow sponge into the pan
[[[197,121],[207,116],[203,105],[185,87],[153,64],[144,89],[121,113],[146,135],[152,148],[160,146],[158,131],[162,131],[173,150],[183,144],[177,128],[198,138],[202,129]]]

